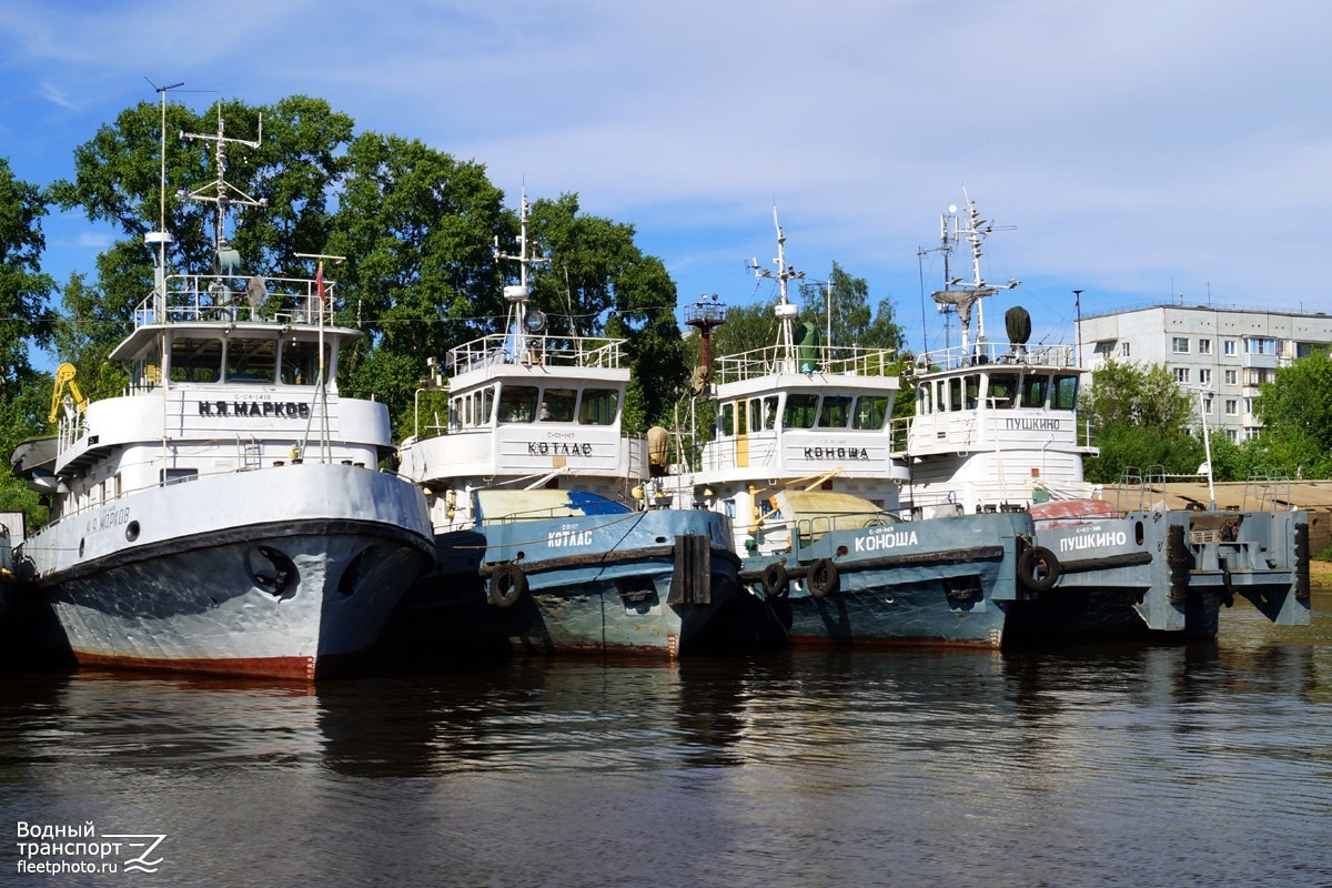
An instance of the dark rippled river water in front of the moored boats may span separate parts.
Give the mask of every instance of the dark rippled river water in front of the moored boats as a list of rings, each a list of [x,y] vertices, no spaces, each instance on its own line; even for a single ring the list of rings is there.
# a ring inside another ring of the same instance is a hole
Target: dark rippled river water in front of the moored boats
[[[1327,887],[1332,594],[1191,646],[0,676],[0,884]]]

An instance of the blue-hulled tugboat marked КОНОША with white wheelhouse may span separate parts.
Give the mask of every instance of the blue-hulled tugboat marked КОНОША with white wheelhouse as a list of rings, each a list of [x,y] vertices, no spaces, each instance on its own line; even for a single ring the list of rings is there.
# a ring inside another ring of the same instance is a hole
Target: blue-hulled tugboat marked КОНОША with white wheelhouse
[[[774,212],[774,222],[777,213]],[[762,590],[797,646],[998,646],[1019,596],[1018,559],[1032,533],[1022,513],[899,521],[907,481],[888,423],[898,390],[887,349],[822,343],[797,325],[777,225],[777,342],[718,359],[717,431],[667,490],[734,522],[741,578]],[[722,318],[702,302],[687,318]]]

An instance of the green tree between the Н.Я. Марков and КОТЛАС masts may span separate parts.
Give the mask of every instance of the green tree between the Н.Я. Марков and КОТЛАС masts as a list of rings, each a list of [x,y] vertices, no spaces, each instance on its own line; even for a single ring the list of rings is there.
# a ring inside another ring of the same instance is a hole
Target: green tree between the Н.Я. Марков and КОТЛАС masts
[[[502,324],[492,242],[515,230],[502,200],[484,166],[416,140],[364,133],[348,149],[329,252],[348,257],[333,269],[340,320],[366,335],[346,354],[342,382],[388,403],[401,434],[417,425],[426,358]]]

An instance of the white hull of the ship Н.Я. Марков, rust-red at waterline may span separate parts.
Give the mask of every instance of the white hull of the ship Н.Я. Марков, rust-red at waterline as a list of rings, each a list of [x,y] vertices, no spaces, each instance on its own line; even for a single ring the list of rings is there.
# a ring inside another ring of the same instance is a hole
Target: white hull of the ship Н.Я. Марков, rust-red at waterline
[[[80,663],[313,679],[433,562],[417,487],[294,465],[125,494],[24,547]]]

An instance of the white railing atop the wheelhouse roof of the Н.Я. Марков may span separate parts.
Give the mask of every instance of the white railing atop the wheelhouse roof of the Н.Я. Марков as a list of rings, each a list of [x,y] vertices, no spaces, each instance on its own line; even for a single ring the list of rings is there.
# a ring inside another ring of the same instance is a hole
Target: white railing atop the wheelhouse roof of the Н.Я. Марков
[[[296,277],[237,277],[232,274],[173,274],[166,292],[153,292],[135,309],[135,329],[152,324],[194,321],[318,324],[330,310],[333,281]]]

